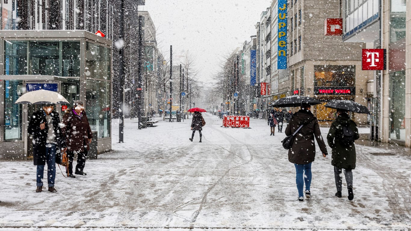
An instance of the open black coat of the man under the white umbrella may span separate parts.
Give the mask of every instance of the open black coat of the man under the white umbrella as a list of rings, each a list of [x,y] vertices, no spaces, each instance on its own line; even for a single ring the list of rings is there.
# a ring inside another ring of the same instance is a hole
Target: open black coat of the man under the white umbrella
[[[51,120],[53,121],[55,143],[57,145],[56,163],[60,163],[60,150],[66,147],[66,141],[61,131],[60,116],[57,112],[52,111],[50,113]],[[46,122],[46,127],[40,129],[40,124]],[[48,134],[48,124],[46,120],[46,113],[43,109],[33,113],[31,120],[28,122],[28,133],[33,137],[33,164],[45,165],[46,164],[46,141]]]

